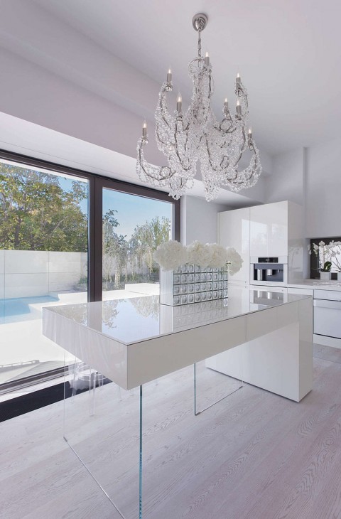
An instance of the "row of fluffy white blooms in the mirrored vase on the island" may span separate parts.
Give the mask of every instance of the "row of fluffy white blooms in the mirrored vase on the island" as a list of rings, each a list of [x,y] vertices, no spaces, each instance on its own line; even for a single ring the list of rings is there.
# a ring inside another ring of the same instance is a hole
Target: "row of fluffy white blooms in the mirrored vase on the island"
[[[242,257],[233,247],[225,249],[217,243],[193,242],[187,247],[170,240],[158,246],[154,252],[154,260],[163,270],[174,270],[185,263],[200,267],[220,268],[225,264],[229,272],[235,274],[242,268]]]

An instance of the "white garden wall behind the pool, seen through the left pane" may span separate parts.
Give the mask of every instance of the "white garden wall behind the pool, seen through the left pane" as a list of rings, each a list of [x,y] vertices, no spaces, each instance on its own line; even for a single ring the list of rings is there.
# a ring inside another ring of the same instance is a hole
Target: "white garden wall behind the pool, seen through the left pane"
[[[73,290],[86,275],[86,252],[0,250],[0,299]]]

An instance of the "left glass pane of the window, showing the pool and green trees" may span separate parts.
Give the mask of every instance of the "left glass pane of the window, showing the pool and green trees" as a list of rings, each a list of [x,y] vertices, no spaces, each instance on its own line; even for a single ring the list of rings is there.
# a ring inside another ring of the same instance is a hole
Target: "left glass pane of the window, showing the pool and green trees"
[[[0,161],[0,388],[63,369],[42,308],[87,301],[88,184]]]

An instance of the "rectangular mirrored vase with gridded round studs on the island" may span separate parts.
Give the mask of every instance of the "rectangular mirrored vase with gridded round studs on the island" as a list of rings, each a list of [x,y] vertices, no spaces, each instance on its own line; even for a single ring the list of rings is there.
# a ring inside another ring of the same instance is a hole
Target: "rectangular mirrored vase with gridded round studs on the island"
[[[170,306],[227,298],[227,265],[220,268],[183,264],[160,272],[160,303]]]

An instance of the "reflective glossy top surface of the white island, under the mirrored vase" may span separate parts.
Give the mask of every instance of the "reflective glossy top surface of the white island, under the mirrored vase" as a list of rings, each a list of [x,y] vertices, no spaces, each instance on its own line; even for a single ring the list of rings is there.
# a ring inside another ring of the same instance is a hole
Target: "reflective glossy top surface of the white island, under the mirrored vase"
[[[177,331],[264,311],[305,299],[264,289],[229,288],[227,299],[179,306],[159,304],[158,296],[113,299],[44,309],[86,326],[126,346]],[[45,318],[46,319],[46,318]]]

